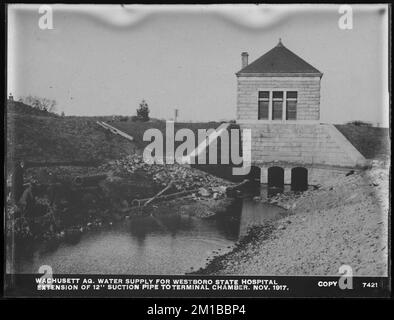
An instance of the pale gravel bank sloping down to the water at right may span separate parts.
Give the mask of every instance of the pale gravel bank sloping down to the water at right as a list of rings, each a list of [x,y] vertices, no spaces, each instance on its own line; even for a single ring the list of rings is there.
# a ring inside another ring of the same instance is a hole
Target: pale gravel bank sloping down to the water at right
[[[389,171],[369,170],[326,181],[318,190],[284,194],[272,202],[291,215],[253,228],[230,253],[203,273],[225,275],[338,275],[388,272]]]

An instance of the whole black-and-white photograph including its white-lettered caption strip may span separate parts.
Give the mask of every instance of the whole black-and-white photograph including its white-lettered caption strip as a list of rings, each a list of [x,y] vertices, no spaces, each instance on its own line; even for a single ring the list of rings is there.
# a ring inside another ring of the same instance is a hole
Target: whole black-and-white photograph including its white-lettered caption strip
[[[5,295],[390,296],[390,16],[7,4]]]

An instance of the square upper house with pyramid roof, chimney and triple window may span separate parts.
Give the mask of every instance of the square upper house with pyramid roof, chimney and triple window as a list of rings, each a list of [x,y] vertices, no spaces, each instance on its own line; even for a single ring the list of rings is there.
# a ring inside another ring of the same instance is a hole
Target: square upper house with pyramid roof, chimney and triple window
[[[248,64],[242,53],[238,78],[237,119],[267,122],[318,122],[323,74],[282,42]]]

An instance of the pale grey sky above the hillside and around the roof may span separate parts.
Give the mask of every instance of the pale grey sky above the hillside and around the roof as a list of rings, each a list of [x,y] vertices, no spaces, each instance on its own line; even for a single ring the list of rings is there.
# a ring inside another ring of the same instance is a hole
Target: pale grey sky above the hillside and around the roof
[[[178,120],[236,117],[241,52],[249,63],[283,44],[323,72],[324,123],[389,125],[388,10],[339,5],[54,5],[41,29],[39,5],[8,7],[8,92],[55,99],[66,115]]]

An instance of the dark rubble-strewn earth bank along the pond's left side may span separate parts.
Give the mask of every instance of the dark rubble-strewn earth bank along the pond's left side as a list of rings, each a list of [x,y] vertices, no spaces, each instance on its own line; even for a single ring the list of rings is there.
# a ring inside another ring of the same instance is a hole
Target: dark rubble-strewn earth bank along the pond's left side
[[[93,187],[73,184],[76,176],[97,174],[106,178]],[[231,204],[225,192],[232,183],[178,164],[149,165],[138,154],[99,168],[31,168],[25,178],[34,181],[30,198],[22,197],[17,205],[7,199],[8,235],[21,239],[62,239],[132,215],[172,212],[204,218]],[[182,195],[134,206],[135,199],[149,199],[170,183],[163,196]]]

